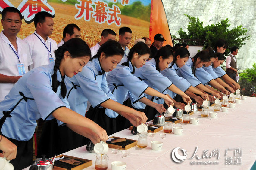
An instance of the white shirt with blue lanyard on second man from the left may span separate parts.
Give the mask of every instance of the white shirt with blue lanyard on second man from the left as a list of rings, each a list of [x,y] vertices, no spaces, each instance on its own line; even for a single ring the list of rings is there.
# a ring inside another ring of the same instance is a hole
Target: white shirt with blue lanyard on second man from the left
[[[29,66],[29,70],[41,65],[50,64],[55,60],[54,51],[58,48],[56,41],[47,37],[45,41],[37,32],[29,35],[24,39],[29,46],[29,51],[33,64]],[[47,48],[46,48],[47,47]],[[50,58],[53,58],[50,60]]]

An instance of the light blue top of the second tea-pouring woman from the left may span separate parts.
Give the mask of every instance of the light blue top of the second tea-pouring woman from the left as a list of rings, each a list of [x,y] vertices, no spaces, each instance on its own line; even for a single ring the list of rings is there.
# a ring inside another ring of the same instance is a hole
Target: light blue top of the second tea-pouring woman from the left
[[[83,116],[85,116],[87,101],[93,108],[101,107],[101,103],[108,99],[116,101],[108,88],[106,74],[98,58],[89,61],[81,72],[72,78],[66,77],[64,81],[70,108]],[[115,118],[118,114],[107,114],[107,116]]]

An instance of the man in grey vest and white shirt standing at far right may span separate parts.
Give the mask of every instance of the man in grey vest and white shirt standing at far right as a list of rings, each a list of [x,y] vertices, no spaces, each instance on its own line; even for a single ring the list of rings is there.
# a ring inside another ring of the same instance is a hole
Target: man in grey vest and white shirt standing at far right
[[[226,68],[227,68],[226,73],[234,81],[236,81],[236,76],[238,75],[237,74],[237,59],[236,59],[238,49],[239,48],[236,46],[231,47],[231,49],[230,49],[231,54],[229,56],[227,56],[227,59],[226,59]]]

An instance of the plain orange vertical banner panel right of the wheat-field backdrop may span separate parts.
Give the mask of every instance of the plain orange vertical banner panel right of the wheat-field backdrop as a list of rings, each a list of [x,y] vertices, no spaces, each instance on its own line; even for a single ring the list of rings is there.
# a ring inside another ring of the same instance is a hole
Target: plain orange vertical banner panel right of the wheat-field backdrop
[[[149,28],[149,38],[151,39],[151,44],[154,42],[154,36],[156,34],[162,34],[164,39],[164,45],[173,46],[173,41],[167,21],[167,17],[164,10],[163,2],[160,0],[151,0],[151,15],[150,15],[150,28]]]

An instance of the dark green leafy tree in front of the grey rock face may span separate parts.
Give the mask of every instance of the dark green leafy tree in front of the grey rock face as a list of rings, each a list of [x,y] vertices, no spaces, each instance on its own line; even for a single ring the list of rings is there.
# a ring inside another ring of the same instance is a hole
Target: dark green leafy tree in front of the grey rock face
[[[199,39],[204,41],[204,48],[213,47],[216,41],[220,38],[226,40],[229,47],[237,46],[242,47],[245,40],[249,40],[250,36],[246,36],[247,29],[242,28],[242,26],[237,26],[233,29],[228,29],[230,26],[228,18],[221,20],[216,24],[211,24],[203,26],[203,22],[200,22],[199,18],[191,17],[185,14],[189,19],[189,24],[187,26],[188,32],[184,32],[180,28],[177,33],[180,36],[180,39]],[[190,45],[197,45],[195,42],[188,42]],[[229,55],[230,50],[227,48],[224,55]]]

